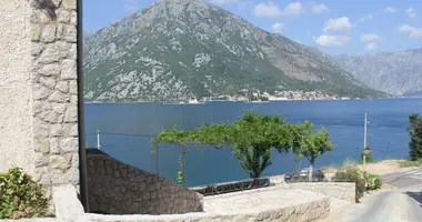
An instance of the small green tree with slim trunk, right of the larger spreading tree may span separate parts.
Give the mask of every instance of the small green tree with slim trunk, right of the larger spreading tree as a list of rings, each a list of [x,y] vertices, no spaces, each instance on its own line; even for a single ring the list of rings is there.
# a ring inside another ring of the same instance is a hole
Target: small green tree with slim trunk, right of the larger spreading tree
[[[314,125],[310,121],[304,121],[298,125],[291,127],[292,149],[298,157],[305,157],[310,162],[309,181],[312,181],[314,163],[318,157],[326,151],[334,149],[330,142],[329,133],[321,128],[313,134]]]

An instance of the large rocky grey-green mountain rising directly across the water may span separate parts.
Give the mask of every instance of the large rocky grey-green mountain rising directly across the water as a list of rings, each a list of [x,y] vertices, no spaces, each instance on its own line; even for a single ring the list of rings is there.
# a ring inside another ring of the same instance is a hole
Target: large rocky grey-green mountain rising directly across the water
[[[160,0],[84,38],[84,92],[170,101],[240,91],[376,97],[332,58],[203,0]]]

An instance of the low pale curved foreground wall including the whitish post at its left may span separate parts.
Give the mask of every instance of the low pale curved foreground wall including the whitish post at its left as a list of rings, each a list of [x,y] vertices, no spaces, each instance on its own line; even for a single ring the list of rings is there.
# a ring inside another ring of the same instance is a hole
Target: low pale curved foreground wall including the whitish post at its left
[[[265,188],[264,190],[274,190],[277,188]],[[247,191],[248,192],[248,191]],[[265,192],[261,191],[250,191]],[[262,222],[314,222],[326,218],[330,213],[330,200],[326,196],[311,198],[309,201],[285,206],[271,206],[265,204],[265,210],[248,211],[239,208],[239,212],[231,213],[207,213],[194,212],[173,215],[101,215],[93,213],[83,213],[82,205],[77,199],[76,189],[68,184],[53,190],[53,202],[56,205],[54,219],[22,219],[22,220],[6,220],[4,222],[245,222],[245,221],[262,221]],[[309,193],[309,192],[305,192]],[[243,193],[247,199],[249,195]],[[232,194],[228,194],[230,196]],[[318,195],[318,194],[316,194]]]

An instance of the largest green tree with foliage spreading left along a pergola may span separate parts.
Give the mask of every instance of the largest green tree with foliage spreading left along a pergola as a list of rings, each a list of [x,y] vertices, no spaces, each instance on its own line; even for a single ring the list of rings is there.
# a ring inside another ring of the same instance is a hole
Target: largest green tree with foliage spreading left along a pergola
[[[259,178],[271,165],[271,149],[287,152],[290,148],[290,128],[279,117],[245,112],[231,124],[204,124],[194,131],[164,130],[153,139],[157,149],[161,142],[179,145],[209,144],[217,149],[234,149],[240,165],[250,178]]]

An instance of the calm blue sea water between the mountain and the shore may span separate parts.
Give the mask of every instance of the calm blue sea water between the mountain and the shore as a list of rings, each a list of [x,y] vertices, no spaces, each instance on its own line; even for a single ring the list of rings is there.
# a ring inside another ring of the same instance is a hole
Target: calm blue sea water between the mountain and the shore
[[[374,159],[406,158],[411,113],[422,113],[422,99],[385,99],[354,101],[280,101],[269,103],[212,102],[204,104],[161,103],[87,103],[86,138],[97,145],[100,131],[101,149],[115,159],[154,172],[152,135],[177,125],[192,130],[205,122],[232,122],[244,111],[280,115],[290,123],[311,120],[330,132],[335,149],[316,159],[316,167],[359,160],[363,148],[364,113],[368,113],[368,144]],[[160,175],[175,180],[180,149],[163,144],[159,151]],[[187,152],[188,186],[247,179],[231,150],[203,149]],[[291,172],[291,153],[274,152],[272,165],[264,174]],[[308,167],[307,160],[300,168]]]

